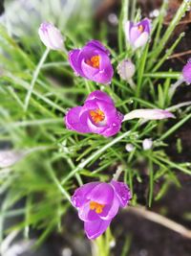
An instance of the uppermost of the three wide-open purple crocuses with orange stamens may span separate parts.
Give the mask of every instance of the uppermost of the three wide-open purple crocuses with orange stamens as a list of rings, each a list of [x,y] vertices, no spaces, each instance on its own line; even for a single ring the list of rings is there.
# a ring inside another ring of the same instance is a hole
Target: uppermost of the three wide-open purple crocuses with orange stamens
[[[82,49],[72,50],[69,61],[76,75],[109,83],[114,75],[109,55],[110,52],[99,41],[91,40]]]

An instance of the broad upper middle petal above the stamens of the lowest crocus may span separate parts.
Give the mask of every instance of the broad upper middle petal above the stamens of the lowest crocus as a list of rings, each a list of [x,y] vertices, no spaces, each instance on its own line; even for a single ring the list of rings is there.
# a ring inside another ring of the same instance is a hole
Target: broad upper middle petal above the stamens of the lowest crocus
[[[100,204],[110,204],[114,198],[114,189],[108,183],[99,183],[87,196],[91,201]]]

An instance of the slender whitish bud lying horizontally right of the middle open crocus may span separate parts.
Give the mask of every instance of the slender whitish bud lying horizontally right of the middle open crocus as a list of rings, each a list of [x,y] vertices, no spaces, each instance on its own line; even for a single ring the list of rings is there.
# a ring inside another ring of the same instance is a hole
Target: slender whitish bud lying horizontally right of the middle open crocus
[[[164,118],[175,118],[175,116],[163,109],[136,109],[124,116],[123,121],[131,120],[134,118],[142,118],[146,120],[160,120]]]

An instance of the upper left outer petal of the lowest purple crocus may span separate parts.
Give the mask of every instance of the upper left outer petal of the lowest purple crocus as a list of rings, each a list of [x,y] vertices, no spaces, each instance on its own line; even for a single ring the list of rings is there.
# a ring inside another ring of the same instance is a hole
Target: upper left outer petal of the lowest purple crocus
[[[79,208],[87,201],[87,195],[98,185],[100,182],[90,182],[80,188],[76,189],[72,202],[74,207]]]

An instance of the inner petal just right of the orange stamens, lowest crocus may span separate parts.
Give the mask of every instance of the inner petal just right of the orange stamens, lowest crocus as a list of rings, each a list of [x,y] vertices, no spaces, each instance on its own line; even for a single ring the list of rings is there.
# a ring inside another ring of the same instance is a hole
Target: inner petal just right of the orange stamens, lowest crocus
[[[101,218],[101,220],[112,220],[118,212],[119,208],[119,201],[117,196],[114,197],[112,205],[105,205],[103,208],[103,211],[98,216]]]

